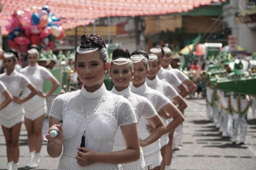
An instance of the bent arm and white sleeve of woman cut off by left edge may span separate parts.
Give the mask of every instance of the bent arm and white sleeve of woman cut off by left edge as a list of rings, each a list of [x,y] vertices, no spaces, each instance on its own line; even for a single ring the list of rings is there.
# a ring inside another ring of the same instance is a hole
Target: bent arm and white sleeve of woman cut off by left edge
[[[7,90],[3,82],[0,81],[0,93],[1,93],[1,104],[0,111],[11,103],[13,97],[11,93]]]

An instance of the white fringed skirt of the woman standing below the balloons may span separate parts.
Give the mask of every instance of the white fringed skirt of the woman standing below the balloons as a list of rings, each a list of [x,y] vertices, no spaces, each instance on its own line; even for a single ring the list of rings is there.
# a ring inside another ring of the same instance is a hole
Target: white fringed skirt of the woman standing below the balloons
[[[25,109],[24,117],[31,121],[36,120],[47,112],[46,99],[38,95],[26,101],[23,106]]]

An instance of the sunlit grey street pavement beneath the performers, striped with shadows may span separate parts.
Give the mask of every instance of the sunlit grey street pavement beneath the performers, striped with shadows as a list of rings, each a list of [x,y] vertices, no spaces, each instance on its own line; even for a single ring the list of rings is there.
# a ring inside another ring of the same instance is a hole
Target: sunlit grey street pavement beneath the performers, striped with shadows
[[[232,145],[223,139],[213,123],[207,123],[205,100],[187,100],[183,123],[182,149],[175,151],[172,170],[256,170],[256,121],[248,113],[245,145]],[[23,125],[20,133],[19,170],[25,170],[29,161],[27,132]],[[38,170],[56,169],[59,158],[51,158],[43,142]],[[7,168],[6,146],[0,130],[0,170]]]

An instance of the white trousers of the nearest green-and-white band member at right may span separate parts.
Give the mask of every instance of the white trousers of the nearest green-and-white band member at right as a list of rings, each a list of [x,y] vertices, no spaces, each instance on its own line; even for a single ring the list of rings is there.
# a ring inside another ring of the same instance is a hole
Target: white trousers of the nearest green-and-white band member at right
[[[238,114],[234,114],[233,119],[234,119],[234,131],[233,131],[233,136],[232,136],[232,142],[236,142],[239,125],[240,125],[240,140],[239,141],[244,142],[246,131],[247,131],[246,115],[243,117],[240,117]]]

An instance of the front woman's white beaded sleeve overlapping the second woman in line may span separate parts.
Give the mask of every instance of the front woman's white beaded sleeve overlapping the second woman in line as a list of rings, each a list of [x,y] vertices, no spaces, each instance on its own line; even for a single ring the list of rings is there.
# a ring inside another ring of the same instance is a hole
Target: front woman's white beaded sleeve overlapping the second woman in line
[[[130,102],[121,97],[120,103],[117,106],[117,121],[118,126],[125,126],[137,123],[137,118]]]

